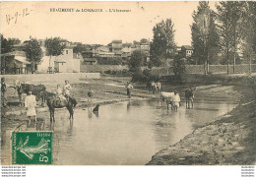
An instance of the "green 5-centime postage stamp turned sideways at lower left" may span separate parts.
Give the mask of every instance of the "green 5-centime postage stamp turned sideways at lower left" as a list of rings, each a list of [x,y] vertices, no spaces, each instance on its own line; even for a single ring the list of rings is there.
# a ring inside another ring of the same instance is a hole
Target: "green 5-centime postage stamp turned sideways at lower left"
[[[13,132],[13,164],[52,164],[52,132]]]

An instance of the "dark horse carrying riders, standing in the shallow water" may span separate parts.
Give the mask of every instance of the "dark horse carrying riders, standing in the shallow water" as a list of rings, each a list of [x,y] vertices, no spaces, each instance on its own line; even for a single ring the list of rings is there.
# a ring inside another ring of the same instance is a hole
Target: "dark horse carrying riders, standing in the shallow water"
[[[55,119],[54,119],[55,108],[67,107],[69,111],[69,118],[70,119],[74,118],[73,107],[76,107],[77,105],[77,100],[74,97],[66,96],[66,98],[60,98],[56,94],[47,92],[47,91],[45,91],[45,95],[46,95],[47,106],[49,107],[49,110],[50,110],[50,121],[53,120],[53,122],[55,122]]]

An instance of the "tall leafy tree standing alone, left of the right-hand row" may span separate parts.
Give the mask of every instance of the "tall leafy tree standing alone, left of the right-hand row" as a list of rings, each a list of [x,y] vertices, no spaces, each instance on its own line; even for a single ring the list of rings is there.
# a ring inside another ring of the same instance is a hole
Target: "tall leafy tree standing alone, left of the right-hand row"
[[[171,19],[161,21],[154,29],[154,38],[151,42],[151,62],[154,66],[165,64],[167,58],[174,56],[175,42],[173,23]]]

